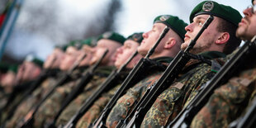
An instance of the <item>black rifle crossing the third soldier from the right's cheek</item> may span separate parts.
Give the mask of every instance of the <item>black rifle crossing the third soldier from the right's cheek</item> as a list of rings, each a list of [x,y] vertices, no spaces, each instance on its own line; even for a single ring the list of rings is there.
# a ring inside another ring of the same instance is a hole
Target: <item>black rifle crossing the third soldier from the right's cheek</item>
[[[135,67],[130,71],[125,81],[121,84],[121,88],[119,88],[116,94],[111,97],[110,102],[107,103],[107,106],[103,109],[101,115],[97,118],[96,121],[94,121],[93,125],[91,126],[104,127],[106,124],[107,116],[110,113],[112,107],[115,106],[117,100],[126,92],[128,88],[132,87],[133,85],[135,85],[135,83],[139,82],[139,80],[143,78],[144,75],[141,74],[145,74],[145,70],[149,69],[150,65],[156,65],[155,62],[149,59],[149,56],[154,53],[154,49],[157,47],[157,45],[159,45],[160,41],[164,38],[168,31],[169,28],[166,26],[164,28],[164,31],[161,33],[161,36],[159,36],[159,39],[149,50],[148,54],[145,56],[145,58],[140,59],[138,64],[136,64]],[[162,67],[162,69],[165,68]],[[68,128],[68,126],[65,127]]]

